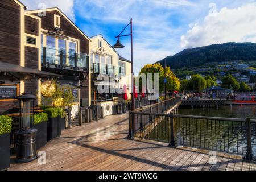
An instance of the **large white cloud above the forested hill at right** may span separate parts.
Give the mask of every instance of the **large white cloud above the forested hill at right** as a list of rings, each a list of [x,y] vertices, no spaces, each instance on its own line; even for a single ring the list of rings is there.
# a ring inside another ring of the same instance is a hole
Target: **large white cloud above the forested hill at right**
[[[189,24],[180,46],[192,48],[226,42],[256,42],[256,3],[236,9],[222,8],[208,14],[203,22]]]

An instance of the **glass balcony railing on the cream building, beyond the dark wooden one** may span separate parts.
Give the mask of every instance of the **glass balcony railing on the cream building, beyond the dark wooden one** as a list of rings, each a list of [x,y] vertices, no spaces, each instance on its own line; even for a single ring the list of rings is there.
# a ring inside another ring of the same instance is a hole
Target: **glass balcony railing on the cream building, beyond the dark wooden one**
[[[91,65],[93,74],[106,74],[106,75],[120,75],[121,67],[112,64],[92,63]]]

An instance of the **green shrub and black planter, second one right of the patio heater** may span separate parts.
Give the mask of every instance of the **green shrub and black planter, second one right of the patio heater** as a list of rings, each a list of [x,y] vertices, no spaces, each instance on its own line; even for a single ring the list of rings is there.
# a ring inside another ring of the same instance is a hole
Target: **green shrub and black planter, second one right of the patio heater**
[[[60,136],[59,108],[48,108],[44,110],[48,114],[47,140]]]

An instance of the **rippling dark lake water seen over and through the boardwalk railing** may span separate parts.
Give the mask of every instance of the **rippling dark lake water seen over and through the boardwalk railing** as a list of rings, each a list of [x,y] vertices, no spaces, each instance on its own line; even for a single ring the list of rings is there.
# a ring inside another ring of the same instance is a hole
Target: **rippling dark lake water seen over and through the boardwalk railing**
[[[201,115],[221,118],[256,119],[255,106],[221,106],[220,109],[194,108],[180,109],[182,115]],[[246,125],[245,122],[229,122],[215,119],[174,118],[175,141],[177,144],[225,151],[234,154],[246,154]],[[251,124],[251,142],[253,154],[256,156],[256,125]],[[170,123],[163,119],[150,134],[148,139],[170,142]]]

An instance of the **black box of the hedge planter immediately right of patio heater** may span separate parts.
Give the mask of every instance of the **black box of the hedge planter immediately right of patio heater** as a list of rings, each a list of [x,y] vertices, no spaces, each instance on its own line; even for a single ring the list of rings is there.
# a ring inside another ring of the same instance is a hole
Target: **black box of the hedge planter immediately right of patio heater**
[[[41,122],[34,125],[36,132],[36,150],[43,147],[47,143],[47,122]]]

